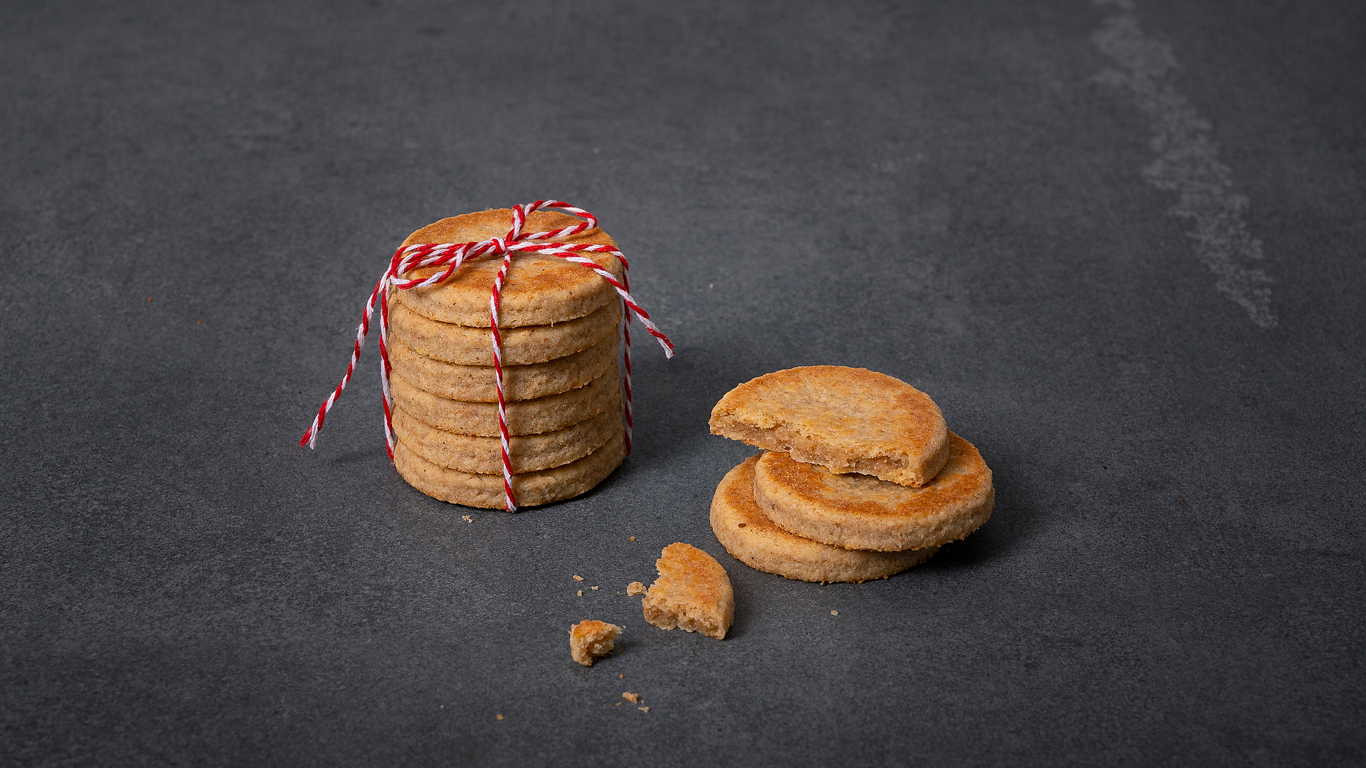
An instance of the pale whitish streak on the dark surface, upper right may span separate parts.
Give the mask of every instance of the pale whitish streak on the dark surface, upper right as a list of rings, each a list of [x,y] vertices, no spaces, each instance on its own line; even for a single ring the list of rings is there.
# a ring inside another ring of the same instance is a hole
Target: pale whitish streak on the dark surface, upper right
[[[1210,138],[1210,124],[1186,97],[1162,82],[1176,68],[1176,57],[1165,42],[1143,36],[1130,0],[1096,0],[1115,5],[1119,14],[1105,19],[1105,27],[1091,36],[1101,53],[1120,70],[1105,70],[1097,79],[1128,87],[1138,108],[1153,120],[1149,142],[1157,160],[1143,168],[1143,178],[1161,190],[1180,197],[1168,212],[1191,219],[1188,232],[1201,262],[1217,277],[1214,287],[1247,310],[1253,323],[1274,328],[1272,279],[1249,261],[1262,258],[1262,242],[1247,232],[1243,212],[1247,197],[1233,191],[1228,165],[1218,161],[1218,145]]]

